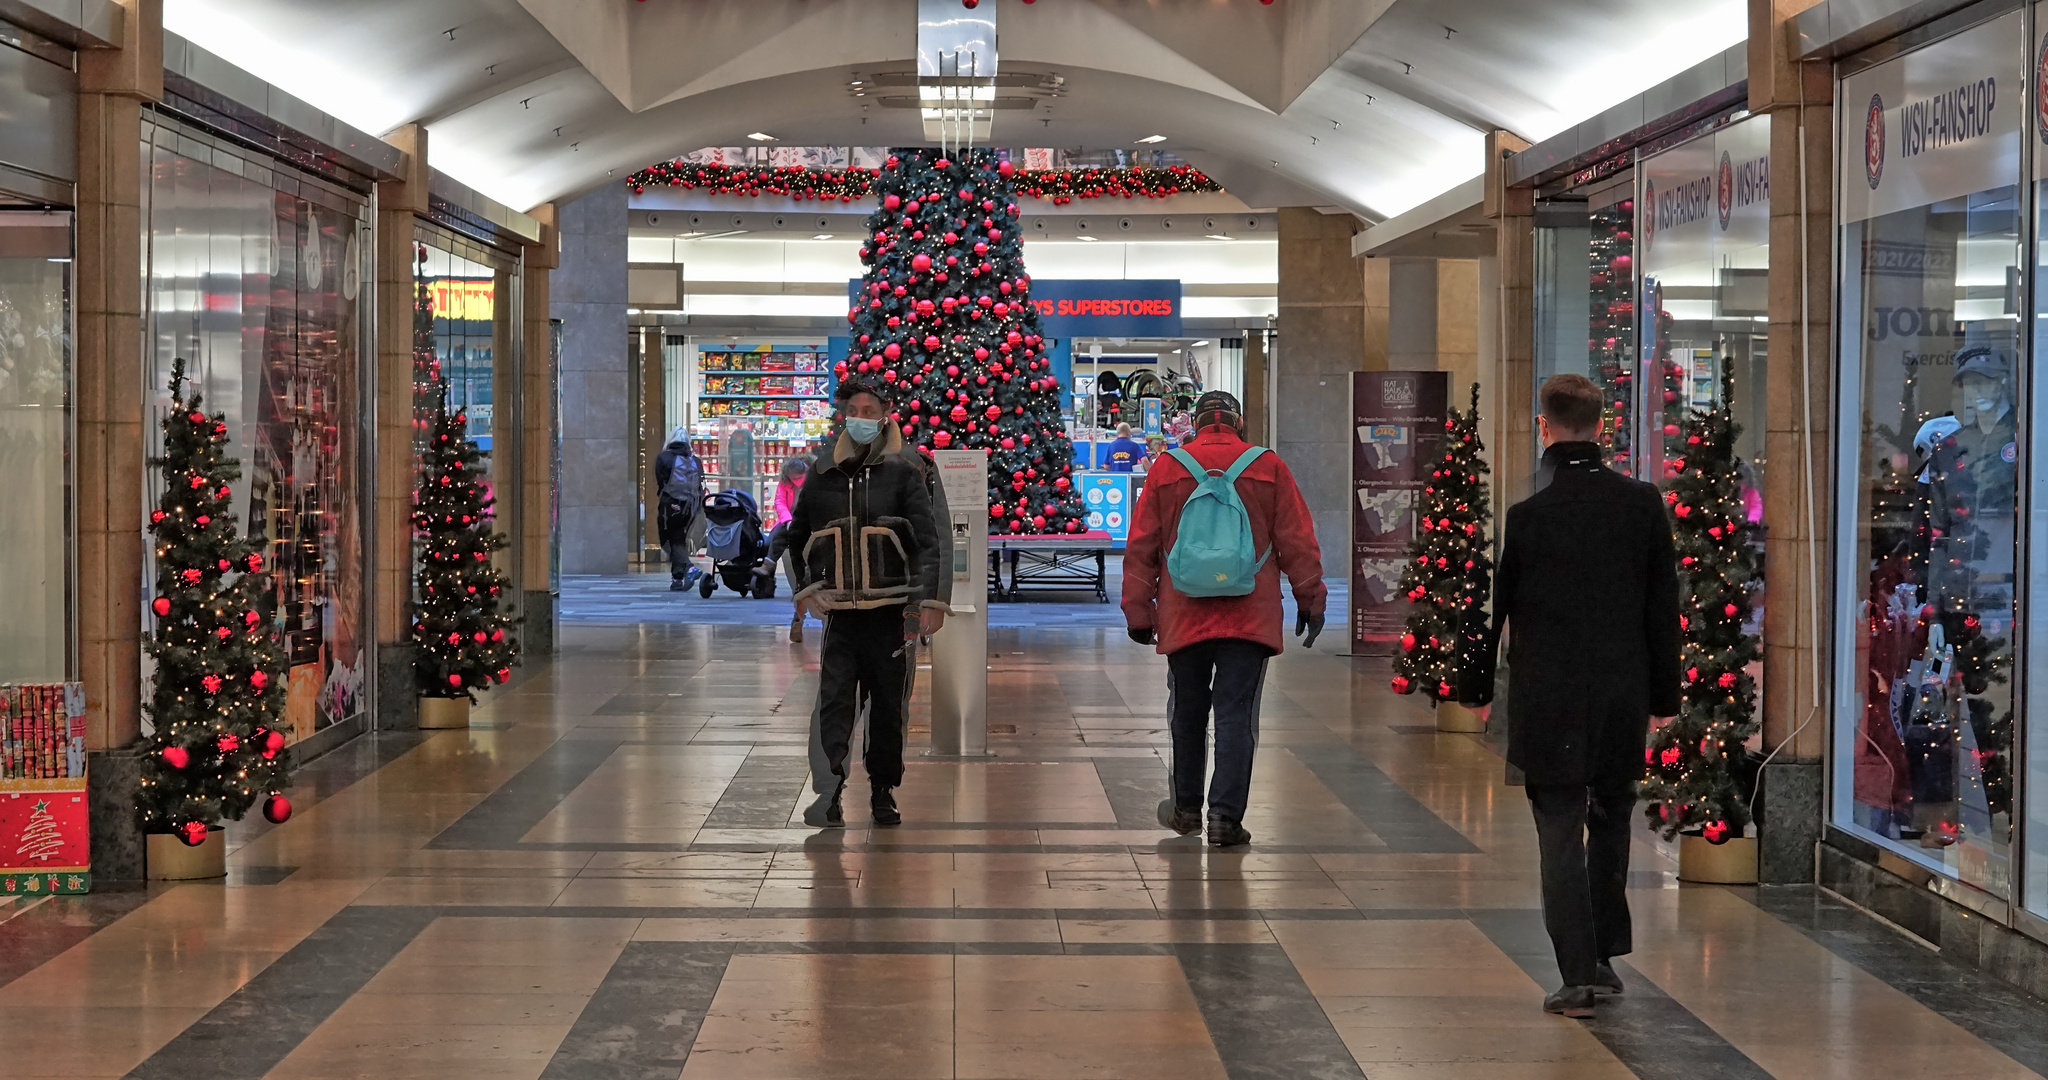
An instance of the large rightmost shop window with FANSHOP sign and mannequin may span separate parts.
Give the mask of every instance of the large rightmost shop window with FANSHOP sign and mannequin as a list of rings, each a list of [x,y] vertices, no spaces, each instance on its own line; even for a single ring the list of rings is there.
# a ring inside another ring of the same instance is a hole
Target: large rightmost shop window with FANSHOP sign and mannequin
[[[2023,41],[2013,12],[1837,94],[1853,426],[1835,822],[1995,896],[2015,805]]]

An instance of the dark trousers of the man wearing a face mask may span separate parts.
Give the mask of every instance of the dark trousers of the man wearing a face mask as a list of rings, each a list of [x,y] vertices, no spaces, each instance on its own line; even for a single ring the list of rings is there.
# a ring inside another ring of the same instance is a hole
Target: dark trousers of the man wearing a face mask
[[[817,662],[817,709],[811,713],[811,789],[829,795],[846,783],[846,754],[860,703],[868,705],[868,742],[860,762],[868,783],[903,783],[903,732],[909,680],[918,668],[903,648],[903,605],[825,615]]]

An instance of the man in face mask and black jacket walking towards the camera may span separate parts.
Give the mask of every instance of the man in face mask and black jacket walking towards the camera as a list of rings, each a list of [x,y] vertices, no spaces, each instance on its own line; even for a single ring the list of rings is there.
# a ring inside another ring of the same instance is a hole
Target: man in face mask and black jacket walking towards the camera
[[[846,379],[834,391],[844,430],[797,494],[784,539],[797,564],[797,603],[825,621],[817,709],[811,713],[811,828],[842,828],[846,756],[860,701],[868,701],[868,773],[874,824],[893,826],[909,723],[911,643],[936,633],[938,529],[926,477],[903,459],[903,430],[881,391]]]

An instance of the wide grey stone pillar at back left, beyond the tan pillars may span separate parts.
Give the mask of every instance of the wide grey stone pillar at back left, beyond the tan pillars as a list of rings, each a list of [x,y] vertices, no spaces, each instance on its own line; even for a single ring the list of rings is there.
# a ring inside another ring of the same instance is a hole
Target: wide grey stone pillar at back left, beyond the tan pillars
[[[635,416],[627,379],[627,189],[604,184],[559,207],[561,572],[625,574],[633,549]]]

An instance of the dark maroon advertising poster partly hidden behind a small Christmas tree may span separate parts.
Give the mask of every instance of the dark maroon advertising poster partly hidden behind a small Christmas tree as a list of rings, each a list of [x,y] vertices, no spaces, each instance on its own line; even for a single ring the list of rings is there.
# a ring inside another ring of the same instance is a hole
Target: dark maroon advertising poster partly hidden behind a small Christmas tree
[[[1450,375],[1352,373],[1352,652],[1391,654],[1407,619],[1401,570],[1415,504],[1444,443]]]

